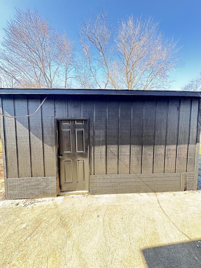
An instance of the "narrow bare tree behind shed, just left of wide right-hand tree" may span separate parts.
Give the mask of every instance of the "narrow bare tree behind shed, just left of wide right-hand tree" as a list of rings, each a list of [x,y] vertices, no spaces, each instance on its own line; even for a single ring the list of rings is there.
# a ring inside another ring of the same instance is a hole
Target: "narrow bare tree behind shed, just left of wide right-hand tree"
[[[80,25],[80,41],[86,55],[85,66],[96,87],[106,89],[111,85],[112,25],[102,9],[99,9],[98,15],[92,12],[90,15],[90,19],[83,19]]]

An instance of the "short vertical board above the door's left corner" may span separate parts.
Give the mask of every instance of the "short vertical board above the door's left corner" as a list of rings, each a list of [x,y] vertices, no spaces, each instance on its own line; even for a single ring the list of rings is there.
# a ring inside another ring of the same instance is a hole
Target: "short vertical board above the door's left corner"
[[[55,96],[55,117],[68,118],[68,101],[66,96]]]

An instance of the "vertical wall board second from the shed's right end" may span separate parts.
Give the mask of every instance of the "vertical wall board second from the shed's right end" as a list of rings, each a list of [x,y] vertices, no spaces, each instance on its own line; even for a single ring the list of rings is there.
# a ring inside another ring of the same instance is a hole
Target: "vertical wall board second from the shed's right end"
[[[191,112],[190,110],[191,110],[190,98],[181,99],[180,113],[179,113],[176,172],[186,172],[186,169],[187,169],[189,120],[190,120],[190,112]]]

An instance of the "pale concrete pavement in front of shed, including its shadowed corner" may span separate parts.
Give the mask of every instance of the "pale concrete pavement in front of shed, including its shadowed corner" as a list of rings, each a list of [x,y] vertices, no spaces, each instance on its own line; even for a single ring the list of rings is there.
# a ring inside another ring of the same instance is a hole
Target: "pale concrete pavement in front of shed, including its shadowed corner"
[[[200,190],[0,202],[0,267],[201,267]]]

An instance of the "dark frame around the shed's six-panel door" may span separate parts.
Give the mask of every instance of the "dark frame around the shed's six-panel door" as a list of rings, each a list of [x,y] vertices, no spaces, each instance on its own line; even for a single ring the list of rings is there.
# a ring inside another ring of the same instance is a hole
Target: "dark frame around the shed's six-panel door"
[[[58,136],[58,121],[62,121],[62,120],[87,120],[88,122],[88,170],[89,170],[89,174],[88,174],[88,191],[90,192],[90,139],[89,139],[89,120],[90,118],[55,118],[55,138],[56,138],[56,165],[57,165],[57,194],[59,194],[60,191],[60,178],[59,178],[59,158],[58,158],[58,149],[59,149],[59,136]]]

